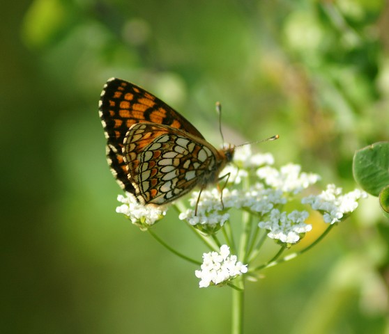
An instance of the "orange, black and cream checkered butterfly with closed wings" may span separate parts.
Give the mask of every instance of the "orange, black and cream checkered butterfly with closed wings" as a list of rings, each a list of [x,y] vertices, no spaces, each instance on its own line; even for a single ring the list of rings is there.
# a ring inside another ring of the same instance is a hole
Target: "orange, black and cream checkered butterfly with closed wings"
[[[107,81],[99,114],[112,173],[143,205],[165,205],[196,186],[201,193],[234,156],[234,145],[217,150],[181,114],[128,81]]]

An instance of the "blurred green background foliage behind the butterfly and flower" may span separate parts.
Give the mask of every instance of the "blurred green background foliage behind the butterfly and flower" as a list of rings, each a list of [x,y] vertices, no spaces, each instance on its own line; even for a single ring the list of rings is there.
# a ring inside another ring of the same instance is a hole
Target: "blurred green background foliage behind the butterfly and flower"
[[[216,146],[220,101],[227,141],[280,134],[253,149],[346,191],[353,152],[388,140],[386,1],[1,7],[1,333],[229,333],[229,288],[199,289],[197,268],[114,212],[98,118],[109,77],[155,93]],[[198,259],[206,250],[173,211],[156,230]],[[387,230],[369,198],[248,283],[245,333],[383,333]]]

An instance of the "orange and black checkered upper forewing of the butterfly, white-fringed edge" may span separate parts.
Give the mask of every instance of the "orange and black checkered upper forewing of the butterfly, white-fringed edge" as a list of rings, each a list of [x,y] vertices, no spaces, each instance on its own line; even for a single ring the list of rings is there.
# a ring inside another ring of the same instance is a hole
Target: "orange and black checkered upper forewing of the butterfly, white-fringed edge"
[[[153,122],[182,129],[197,138],[200,132],[177,111],[146,90],[128,81],[112,78],[105,84],[99,102],[99,114],[107,138],[107,160],[120,186],[130,193],[135,188],[128,180],[123,160],[123,141],[132,125]]]

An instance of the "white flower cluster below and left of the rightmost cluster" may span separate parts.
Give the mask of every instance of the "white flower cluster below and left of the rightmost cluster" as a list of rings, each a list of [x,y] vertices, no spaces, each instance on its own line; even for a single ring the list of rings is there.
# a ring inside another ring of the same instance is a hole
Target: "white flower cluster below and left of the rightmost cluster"
[[[290,214],[273,209],[266,221],[258,223],[259,228],[269,230],[268,237],[280,240],[282,243],[290,245],[296,244],[300,240],[301,234],[312,230],[311,224],[306,224],[305,220],[309,214],[306,211],[294,210]]]

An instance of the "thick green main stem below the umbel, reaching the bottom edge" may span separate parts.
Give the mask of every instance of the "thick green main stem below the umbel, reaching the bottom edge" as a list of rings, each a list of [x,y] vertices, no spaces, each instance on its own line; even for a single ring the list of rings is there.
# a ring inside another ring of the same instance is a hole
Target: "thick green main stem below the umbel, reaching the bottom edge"
[[[231,334],[243,333],[244,275],[235,278],[232,289]]]

